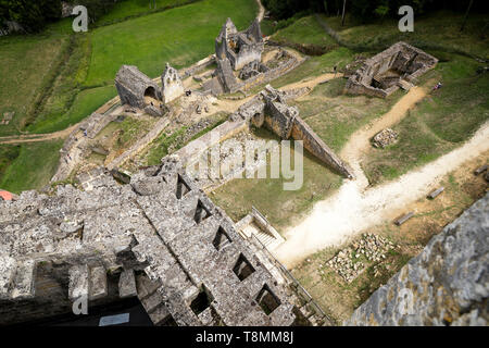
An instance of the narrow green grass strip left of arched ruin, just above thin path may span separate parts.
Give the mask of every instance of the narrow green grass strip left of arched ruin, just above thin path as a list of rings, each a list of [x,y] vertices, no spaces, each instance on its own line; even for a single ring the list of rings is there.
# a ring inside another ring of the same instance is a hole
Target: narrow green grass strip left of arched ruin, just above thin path
[[[51,133],[65,129],[89,116],[115,96],[116,90],[114,86],[83,90],[76,96],[72,108],[66,113],[39,117],[28,129],[32,133]]]

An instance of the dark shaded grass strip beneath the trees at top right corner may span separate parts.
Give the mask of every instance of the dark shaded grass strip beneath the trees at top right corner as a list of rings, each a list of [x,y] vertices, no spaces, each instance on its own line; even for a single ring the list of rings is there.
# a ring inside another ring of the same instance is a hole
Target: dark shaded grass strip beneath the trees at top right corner
[[[440,11],[415,17],[414,32],[401,33],[398,21],[385,20],[374,24],[360,24],[347,17],[341,26],[341,17],[326,17],[328,26],[337,30],[340,38],[361,47],[388,47],[403,40],[422,49],[446,49],[462,51],[487,59],[489,57],[489,37],[482,32],[487,23],[484,14],[471,13],[464,32],[460,32],[463,13]]]

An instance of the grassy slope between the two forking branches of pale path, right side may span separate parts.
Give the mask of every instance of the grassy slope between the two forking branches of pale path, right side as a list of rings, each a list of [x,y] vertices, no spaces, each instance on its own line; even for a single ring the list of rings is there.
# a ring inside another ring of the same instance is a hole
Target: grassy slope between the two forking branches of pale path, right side
[[[393,179],[460,147],[489,120],[488,74],[477,75],[474,60],[452,55],[426,78],[443,87],[430,94],[402,120],[394,130],[399,141],[386,149],[372,149],[363,166],[371,184]]]

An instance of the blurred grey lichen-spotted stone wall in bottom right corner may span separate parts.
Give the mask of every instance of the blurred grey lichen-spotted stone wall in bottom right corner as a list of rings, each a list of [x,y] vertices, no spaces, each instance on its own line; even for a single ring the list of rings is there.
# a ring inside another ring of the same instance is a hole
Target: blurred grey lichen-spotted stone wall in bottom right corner
[[[489,194],[355,310],[347,325],[489,322]]]

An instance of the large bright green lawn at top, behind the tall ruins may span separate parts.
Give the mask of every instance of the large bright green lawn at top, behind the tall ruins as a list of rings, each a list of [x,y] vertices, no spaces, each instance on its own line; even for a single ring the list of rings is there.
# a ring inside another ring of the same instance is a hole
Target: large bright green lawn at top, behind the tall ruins
[[[253,0],[204,0],[91,32],[92,57],[86,85],[112,82],[123,64],[155,77],[170,62],[179,69],[214,51],[228,16],[238,28],[256,14]]]

